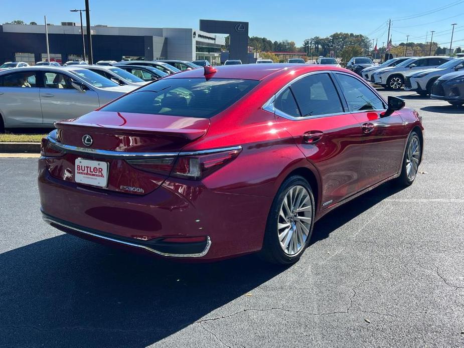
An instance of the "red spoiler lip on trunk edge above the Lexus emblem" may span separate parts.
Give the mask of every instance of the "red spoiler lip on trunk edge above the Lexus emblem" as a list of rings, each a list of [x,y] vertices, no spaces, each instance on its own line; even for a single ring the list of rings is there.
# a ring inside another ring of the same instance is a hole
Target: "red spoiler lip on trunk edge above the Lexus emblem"
[[[207,129],[174,129],[174,128],[141,128],[141,127],[126,127],[126,126],[108,126],[94,123],[77,123],[74,121],[57,121],[54,123],[56,128],[68,128],[68,127],[82,127],[89,128],[92,130],[111,130],[115,134],[127,135],[131,134],[143,134],[143,135],[156,135],[163,134],[166,136],[179,137],[193,141],[206,134]]]

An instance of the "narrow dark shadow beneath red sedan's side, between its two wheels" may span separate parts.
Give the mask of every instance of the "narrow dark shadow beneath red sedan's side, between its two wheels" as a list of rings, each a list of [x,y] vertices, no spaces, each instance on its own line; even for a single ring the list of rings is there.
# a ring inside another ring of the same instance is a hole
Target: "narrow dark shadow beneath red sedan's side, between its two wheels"
[[[394,183],[387,182],[376,189],[355,198],[353,201],[334,209],[315,223],[310,245],[329,237],[329,234],[332,231],[335,231],[350,220],[356,218],[358,215],[364,213],[369,208],[375,206],[377,203],[403,189],[404,188],[397,186]]]

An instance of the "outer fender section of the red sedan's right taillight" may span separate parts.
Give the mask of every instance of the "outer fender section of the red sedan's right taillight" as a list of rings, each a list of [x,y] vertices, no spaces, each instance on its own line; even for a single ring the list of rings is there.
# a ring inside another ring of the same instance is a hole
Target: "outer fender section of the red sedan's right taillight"
[[[200,180],[232,161],[240,153],[239,149],[179,156],[171,172],[172,177]]]

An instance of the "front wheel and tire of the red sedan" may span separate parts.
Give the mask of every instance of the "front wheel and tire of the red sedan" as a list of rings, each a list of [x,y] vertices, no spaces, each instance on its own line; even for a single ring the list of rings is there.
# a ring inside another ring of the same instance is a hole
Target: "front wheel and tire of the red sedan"
[[[406,150],[404,151],[401,174],[397,179],[399,186],[409,186],[416,179],[421,151],[419,135],[415,131],[411,132],[406,144]]]

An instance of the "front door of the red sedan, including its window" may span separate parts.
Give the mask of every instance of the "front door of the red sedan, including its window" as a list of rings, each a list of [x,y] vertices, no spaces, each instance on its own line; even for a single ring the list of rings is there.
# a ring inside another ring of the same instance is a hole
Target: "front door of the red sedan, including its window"
[[[371,87],[351,74],[337,72],[335,76],[349,110],[361,124],[364,151],[359,180],[362,190],[398,172],[407,134],[398,113],[381,117],[386,105]]]

